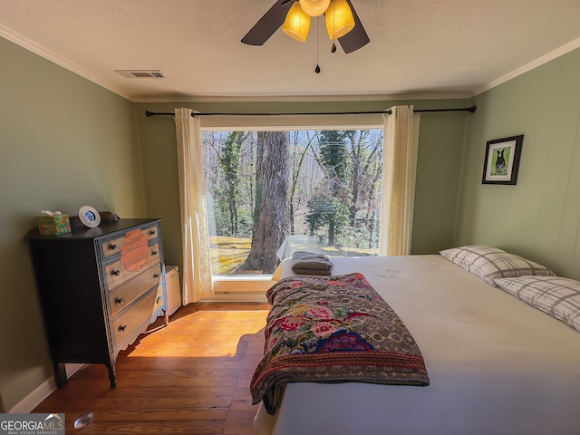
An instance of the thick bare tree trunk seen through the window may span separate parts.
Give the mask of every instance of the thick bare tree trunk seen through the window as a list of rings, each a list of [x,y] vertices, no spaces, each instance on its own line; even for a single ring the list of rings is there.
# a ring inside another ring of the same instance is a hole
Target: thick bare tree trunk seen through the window
[[[271,274],[278,266],[278,247],[288,236],[290,212],[290,133],[260,131],[256,152],[256,208],[252,245],[242,270]]]

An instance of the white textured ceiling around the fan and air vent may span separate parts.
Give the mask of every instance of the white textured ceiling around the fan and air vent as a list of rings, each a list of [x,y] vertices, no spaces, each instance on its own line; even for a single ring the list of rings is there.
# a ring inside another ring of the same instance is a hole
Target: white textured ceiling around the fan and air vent
[[[0,35],[134,102],[466,96],[580,46],[580,0],[352,0],[371,39],[356,52],[330,53],[321,21],[317,54],[315,20],[306,43],[240,43],[274,3],[0,0]]]

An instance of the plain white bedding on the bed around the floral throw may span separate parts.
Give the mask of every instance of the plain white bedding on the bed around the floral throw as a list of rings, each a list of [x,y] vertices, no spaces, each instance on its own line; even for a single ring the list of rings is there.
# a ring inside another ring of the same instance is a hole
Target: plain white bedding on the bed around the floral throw
[[[332,258],[361,272],[420,346],[430,386],[286,385],[256,435],[580,434],[580,333],[442,256]],[[294,275],[290,263],[279,268]]]

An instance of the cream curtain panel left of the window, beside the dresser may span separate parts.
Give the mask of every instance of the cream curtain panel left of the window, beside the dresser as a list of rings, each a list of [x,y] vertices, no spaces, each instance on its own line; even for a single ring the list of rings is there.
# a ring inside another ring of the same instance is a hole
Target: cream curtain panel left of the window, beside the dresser
[[[199,117],[192,117],[191,113],[190,109],[175,110],[183,239],[183,304],[213,295],[201,127]]]

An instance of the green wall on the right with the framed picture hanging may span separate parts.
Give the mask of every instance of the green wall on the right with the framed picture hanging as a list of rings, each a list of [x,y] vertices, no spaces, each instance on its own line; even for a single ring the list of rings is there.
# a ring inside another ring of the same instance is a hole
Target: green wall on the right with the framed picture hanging
[[[580,279],[580,50],[476,98],[454,243],[497,246]],[[516,186],[482,185],[486,142],[524,134]]]

